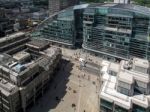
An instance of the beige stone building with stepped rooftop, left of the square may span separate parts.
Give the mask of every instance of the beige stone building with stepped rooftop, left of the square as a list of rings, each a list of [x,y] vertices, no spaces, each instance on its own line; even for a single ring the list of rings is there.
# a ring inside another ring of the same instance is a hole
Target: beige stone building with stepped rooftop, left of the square
[[[24,38],[21,35],[1,40],[1,44],[9,45],[5,40],[15,44],[14,40],[17,43],[18,38]],[[21,43],[24,47],[16,44],[11,46],[11,53],[0,55],[0,112],[26,112],[48,89],[61,59],[61,50],[50,47],[47,41]]]

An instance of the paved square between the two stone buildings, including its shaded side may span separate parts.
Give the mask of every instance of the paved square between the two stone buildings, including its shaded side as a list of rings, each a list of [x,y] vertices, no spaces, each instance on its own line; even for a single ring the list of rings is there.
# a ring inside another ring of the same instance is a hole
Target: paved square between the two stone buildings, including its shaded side
[[[63,60],[50,89],[29,112],[99,112],[98,76],[78,66]]]

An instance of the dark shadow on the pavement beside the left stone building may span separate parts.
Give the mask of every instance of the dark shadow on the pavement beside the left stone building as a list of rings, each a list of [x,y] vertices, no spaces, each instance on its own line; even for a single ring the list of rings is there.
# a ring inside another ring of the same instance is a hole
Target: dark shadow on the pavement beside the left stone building
[[[60,66],[56,69],[47,92],[45,92],[33,108],[28,109],[29,112],[48,112],[51,109],[55,109],[60,102],[64,101],[63,97],[67,92],[67,83],[69,82],[72,67],[73,63],[70,61],[63,59],[60,61]]]

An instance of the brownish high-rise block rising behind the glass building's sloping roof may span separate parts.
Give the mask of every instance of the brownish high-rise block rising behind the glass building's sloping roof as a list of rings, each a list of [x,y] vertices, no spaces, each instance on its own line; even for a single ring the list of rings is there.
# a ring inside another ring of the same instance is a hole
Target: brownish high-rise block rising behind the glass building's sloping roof
[[[52,15],[69,6],[78,4],[79,0],[49,0],[49,15]]]

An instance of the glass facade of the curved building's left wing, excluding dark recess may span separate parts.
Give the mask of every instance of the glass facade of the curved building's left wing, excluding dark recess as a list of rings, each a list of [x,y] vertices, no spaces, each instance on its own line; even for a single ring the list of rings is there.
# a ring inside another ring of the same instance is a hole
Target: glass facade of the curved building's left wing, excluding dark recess
[[[74,44],[75,29],[73,10],[69,9],[67,13],[62,12],[58,14],[55,20],[52,20],[41,29],[41,33],[47,39],[68,45]]]

